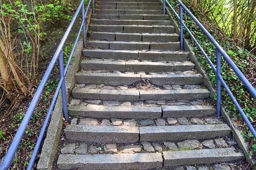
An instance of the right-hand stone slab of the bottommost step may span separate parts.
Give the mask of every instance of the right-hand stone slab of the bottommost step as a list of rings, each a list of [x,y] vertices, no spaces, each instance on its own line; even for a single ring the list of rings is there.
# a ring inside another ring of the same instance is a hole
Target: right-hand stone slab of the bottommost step
[[[216,148],[203,150],[183,150],[163,152],[163,166],[186,164],[215,164],[218,162],[236,161],[244,158],[244,154],[235,148]]]

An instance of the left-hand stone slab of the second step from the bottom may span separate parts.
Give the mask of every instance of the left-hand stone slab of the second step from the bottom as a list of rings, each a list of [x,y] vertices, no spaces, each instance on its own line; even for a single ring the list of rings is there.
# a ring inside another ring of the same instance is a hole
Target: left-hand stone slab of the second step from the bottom
[[[139,141],[139,127],[67,125],[67,139],[97,143],[132,143]]]

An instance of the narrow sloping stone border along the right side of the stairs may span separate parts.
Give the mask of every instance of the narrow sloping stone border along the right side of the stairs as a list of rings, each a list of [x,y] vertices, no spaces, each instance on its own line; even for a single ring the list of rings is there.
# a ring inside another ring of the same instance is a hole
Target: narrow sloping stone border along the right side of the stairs
[[[163,5],[162,0],[159,0],[160,4]],[[171,20],[172,25],[175,26],[175,33],[180,34],[180,26],[177,23],[177,21],[172,17],[172,14],[170,13],[169,9],[166,7],[166,14],[169,15],[169,20]],[[189,59],[194,62],[196,68],[198,71],[204,75],[204,85],[209,89],[211,96],[214,96],[216,90],[213,88],[212,83],[209,81],[207,74],[201,68],[201,63],[198,61],[198,57],[196,57],[195,53],[193,52],[194,48],[189,45],[189,40],[184,38],[184,48],[186,51],[189,52]],[[253,160],[252,153],[250,151],[250,147],[247,144],[247,142],[244,141],[244,137],[241,135],[241,130],[239,130],[237,127],[237,123],[230,119],[230,115],[225,111],[224,108],[221,108],[221,115],[224,117],[224,119],[227,121],[228,125],[231,127],[231,131],[233,133],[233,136],[238,143],[239,147],[243,151],[245,155],[246,161],[250,164],[251,167],[253,167],[253,164],[256,164],[256,160]]]

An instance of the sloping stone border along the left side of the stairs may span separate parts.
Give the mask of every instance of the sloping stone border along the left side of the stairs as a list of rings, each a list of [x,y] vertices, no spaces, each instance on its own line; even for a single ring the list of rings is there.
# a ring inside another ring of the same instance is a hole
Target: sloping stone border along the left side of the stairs
[[[88,32],[88,27],[90,25],[90,17],[92,14],[92,10],[90,8],[89,16],[87,18],[87,29],[86,29],[86,35]],[[81,58],[81,51],[83,48],[83,41],[79,40],[77,42],[74,54],[73,54],[73,62],[70,64],[67,74],[65,77],[65,84],[66,84],[66,95],[67,99],[69,97],[69,94],[71,90],[73,89],[75,85],[75,74],[79,69],[79,61]],[[61,91],[58,94],[58,99],[55,103],[55,108],[52,111],[51,120],[49,123],[49,127],[47,130],[47,136],[44,140],[44,144],[41,150],[40,159],[37,164],[38,170],[51,170],[53,161],[55,160],[55,155],[58,148],[58,143],[61,135],[62,130],[62,99],[61,99]]]

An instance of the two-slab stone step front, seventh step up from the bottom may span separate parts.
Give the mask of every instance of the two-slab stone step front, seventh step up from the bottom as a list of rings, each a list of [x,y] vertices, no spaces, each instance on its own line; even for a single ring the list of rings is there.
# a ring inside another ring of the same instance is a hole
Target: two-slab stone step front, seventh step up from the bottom
[[[186,52],[170,51],[129,51],[129,50],[83,50],[84,57],[112,59],[140,59],[150,61],[183,61],[188,59]]]

